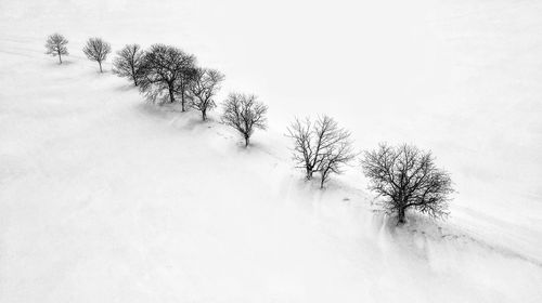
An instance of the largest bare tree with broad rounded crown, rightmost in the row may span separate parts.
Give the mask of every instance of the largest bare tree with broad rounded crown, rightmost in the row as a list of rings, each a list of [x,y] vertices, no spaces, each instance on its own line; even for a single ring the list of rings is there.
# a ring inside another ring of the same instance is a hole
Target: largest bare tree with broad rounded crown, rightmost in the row
[[[385,211],[397,214],[398,224],[402,224],[411,208],[434,219],[448,215],[452,182],[434,161],[430,152],[412,145],[380,144],[378,149],[365,152],[361,163],[370,180],[369,188],[385,198]]]

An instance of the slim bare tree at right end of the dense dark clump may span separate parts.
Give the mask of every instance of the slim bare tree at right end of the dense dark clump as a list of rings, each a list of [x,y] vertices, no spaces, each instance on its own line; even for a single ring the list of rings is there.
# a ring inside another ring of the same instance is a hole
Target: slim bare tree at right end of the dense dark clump
[[[197,68],[194,81],[190,85],[192,107],[202,111],[202,119],[207,120],[207,110],[217,105],[212,97],[220,89],[224,75],[216,69]]]

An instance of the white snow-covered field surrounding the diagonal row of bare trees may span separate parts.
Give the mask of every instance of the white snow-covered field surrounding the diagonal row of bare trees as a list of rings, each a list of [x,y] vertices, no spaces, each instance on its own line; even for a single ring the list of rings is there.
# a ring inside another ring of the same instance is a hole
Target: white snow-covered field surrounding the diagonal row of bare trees
[[[542,301],[542,3],[402,2],[0,0],[0,302]],[[195,53],[269,130],[146,104],[90,36]],[[434,150],[450,220],[305,183],[283,134],[319,113]]]

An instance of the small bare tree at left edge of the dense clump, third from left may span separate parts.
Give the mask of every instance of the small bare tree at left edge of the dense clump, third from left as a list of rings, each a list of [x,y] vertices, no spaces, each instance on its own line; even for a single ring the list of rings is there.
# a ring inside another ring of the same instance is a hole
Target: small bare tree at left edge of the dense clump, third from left
[[[117,52],[117,57],[113,61],[113,73],[119,77],[130,78],[137,87],[143,74],[141,68],[143,54],[141,47],[138,44],[124,47]]]

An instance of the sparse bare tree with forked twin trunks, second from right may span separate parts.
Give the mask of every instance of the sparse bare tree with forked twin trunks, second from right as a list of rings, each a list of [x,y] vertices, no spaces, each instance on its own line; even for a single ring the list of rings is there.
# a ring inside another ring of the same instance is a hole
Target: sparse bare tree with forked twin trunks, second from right
[[[287,136],[294,140],[296,167],[305,170],[307,180],[320,172],[320,187],[324,186],[330,174],[340,173],[340,167],[356,157],[350,133],[327,116],[319,117],[314,122],[310,118],[296,119],[287,132]]]

